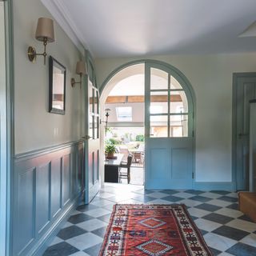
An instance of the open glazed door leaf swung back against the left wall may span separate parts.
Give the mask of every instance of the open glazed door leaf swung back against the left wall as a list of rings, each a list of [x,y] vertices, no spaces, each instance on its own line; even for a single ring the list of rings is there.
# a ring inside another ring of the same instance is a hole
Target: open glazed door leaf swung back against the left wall
[[[94,73],[94,66],[87,61],[88,79],[86,91],[86,203],[89,203],[98,193],[99,182],[99,106],[98,87]]]

